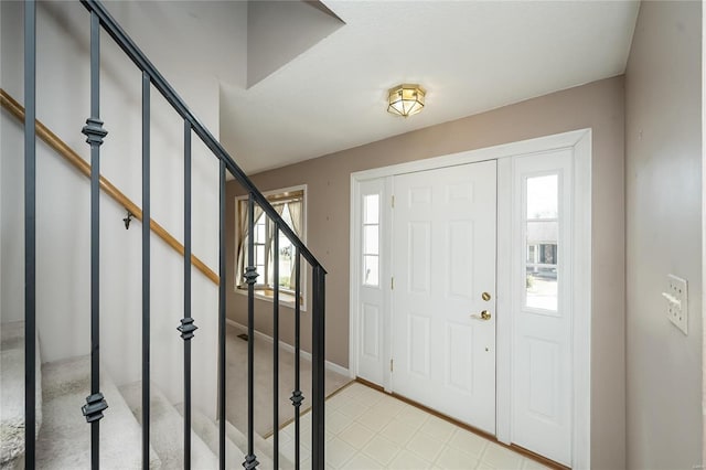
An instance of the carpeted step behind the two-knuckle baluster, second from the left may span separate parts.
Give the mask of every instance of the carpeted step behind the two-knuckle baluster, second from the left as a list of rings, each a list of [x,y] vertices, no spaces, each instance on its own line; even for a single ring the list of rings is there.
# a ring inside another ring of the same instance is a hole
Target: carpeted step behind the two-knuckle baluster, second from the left
[[[44,424],[36,442],[36,466],[47,469],[90,467],[90,426],[81,407],[90,394],[90,357],[44,364]],[[141,467],[142,429],[110,377],[101,371],[100,392],[108,403],[100,420],[100,468]],[[150,468],[159,468],[150,450]]]

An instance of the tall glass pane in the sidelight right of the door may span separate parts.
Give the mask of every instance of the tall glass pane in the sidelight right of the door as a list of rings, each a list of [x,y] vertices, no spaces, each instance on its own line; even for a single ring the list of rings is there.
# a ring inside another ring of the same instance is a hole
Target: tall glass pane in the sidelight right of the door
[[[558,174],[526,179],[525,305],[550,311],[558,308]]]

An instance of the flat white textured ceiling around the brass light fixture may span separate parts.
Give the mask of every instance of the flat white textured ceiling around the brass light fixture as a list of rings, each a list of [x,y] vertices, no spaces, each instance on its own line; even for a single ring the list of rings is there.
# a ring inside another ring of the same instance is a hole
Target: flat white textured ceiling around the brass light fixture
[[[222,81],[221,139],[248,173],[624,72],[639,3],[324,1],[345,25],[261,82]],[[398,83],[425,110],[386,113]]]

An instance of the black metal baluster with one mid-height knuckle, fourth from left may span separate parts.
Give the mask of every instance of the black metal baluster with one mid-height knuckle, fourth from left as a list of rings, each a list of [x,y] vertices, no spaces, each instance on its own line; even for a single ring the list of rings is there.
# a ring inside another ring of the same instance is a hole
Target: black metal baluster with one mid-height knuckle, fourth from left
[[[184,469],[191,468],[191,124],[184,119],[184,318],[176,328],[184,340]]]

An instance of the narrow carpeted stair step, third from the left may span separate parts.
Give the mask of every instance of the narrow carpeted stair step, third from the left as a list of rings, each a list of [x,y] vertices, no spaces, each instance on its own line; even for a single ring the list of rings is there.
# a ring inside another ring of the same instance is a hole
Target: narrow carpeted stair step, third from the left
[[[120,387],[120,392],[138,421],[142,418],[142,383],[133,382]],[[150,385],[150,441],[168,469],[183,468],[183,418],[154,384]],[[191,467],[193,469],[215,469],[217,457],[192,430]]]

